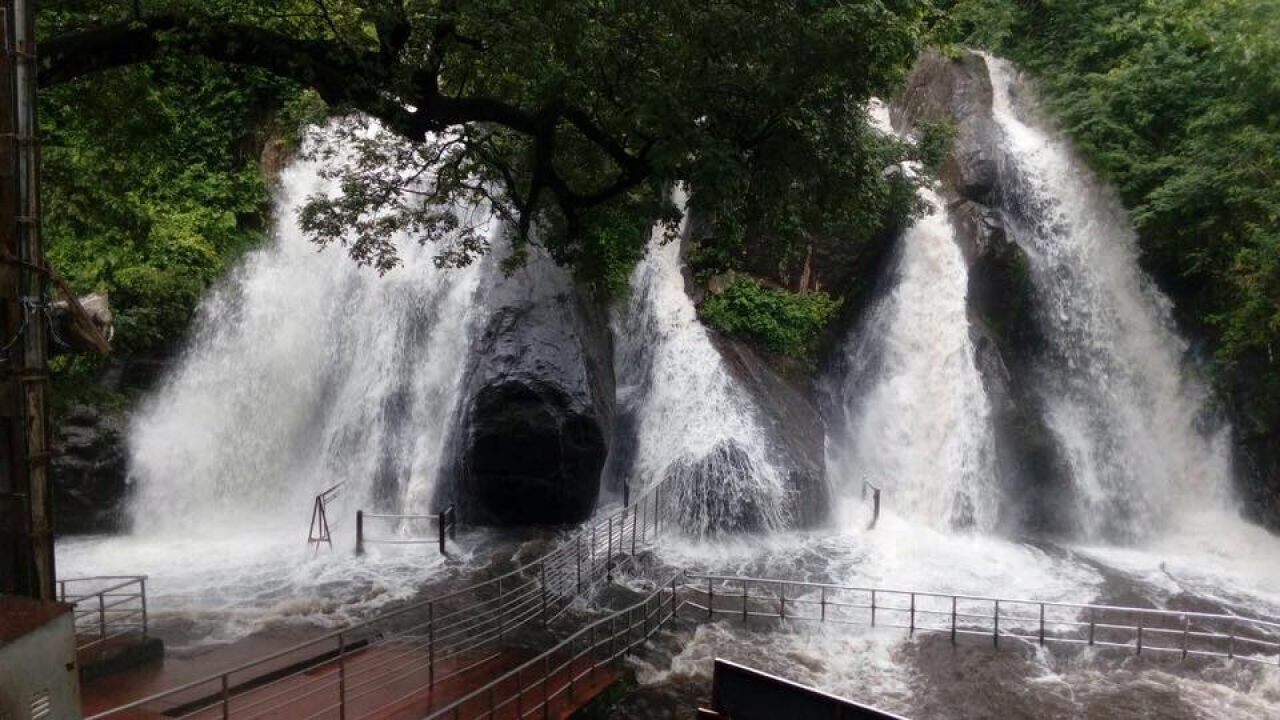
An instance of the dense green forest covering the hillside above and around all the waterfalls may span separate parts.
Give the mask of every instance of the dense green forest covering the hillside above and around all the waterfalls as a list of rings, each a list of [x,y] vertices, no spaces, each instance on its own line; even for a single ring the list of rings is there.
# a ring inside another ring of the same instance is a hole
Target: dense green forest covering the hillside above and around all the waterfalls
[[[1242,438],[1275,462],[1280,3],[685,5],[45,3],[50,258],[78,291],[110,295],[122,356],[163,355],[266,237],[271,174],[301,128],[355,110],[389,132],[334,170],[351,201],[305,213],[317,242],[388,270],[390,233],[454,231],[402,184],[406,167],[443,163],[434,199],[494,201],[517,249],[544,245],[616,296],[682,179],[716,227],[695,270],[739,272],[708,322],[803,356],[842,300],[797,282],[805,250],[815,237],[856,249],[900,223],[914,193],[881,169],[928,164],[946,141],[946,128],[919,146],[884,140],[867,100],[891,95],[927,45],[977,46],[1041,81],[1048,114],[1130,209]],[[422,142],[458,123],[453,141]],[[440,263],[485,250],[442,245]],[[63,360],[60,391],[90,392],[102,363]]]

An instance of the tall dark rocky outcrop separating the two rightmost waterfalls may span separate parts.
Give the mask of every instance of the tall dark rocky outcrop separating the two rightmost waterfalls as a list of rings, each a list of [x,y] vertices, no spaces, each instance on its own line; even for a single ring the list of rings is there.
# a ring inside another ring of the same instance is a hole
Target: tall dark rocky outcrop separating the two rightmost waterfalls
[[[1027,256],[1010,241],[993,208],[1000,164],[986,60],[973,53],[959,59],[925,53],[893,101],[891,118],[902,132],[937,122],[956,128],[940,195],[969,265],[969,333],[992,406],[997,468],[1010,501],[1001,521],[1014,530],[1065,532],[1071,521],[1062,510],[1071,506],[1069,471],[1046,427],[1027,361],[1042,343]]]

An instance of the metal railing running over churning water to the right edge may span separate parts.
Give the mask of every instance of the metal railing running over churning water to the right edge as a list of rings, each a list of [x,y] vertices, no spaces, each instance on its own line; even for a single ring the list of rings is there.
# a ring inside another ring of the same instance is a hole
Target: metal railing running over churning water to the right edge
[[[822,583],[686,575],[690,614],[905,628],[910,633],[1234,659],[1280,667],[1280,623],[1220,615]]]

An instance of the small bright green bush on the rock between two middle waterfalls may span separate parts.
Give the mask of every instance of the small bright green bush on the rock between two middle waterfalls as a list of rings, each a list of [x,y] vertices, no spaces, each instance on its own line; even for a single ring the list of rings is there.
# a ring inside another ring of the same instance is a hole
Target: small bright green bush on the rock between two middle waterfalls
[[[808,357],[840,306],[841,301],[826,292],[787,292],[740,277],[708,297],[701,315],[726,334],[787,357]]]

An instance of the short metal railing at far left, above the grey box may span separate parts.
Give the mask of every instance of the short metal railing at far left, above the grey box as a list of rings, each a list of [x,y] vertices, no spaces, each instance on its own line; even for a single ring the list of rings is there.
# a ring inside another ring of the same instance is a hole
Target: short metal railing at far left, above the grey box
[[[76,650],[101,650],[128,635],[147,637],[146,575],[58,580],[58,600],[76,606]]]

